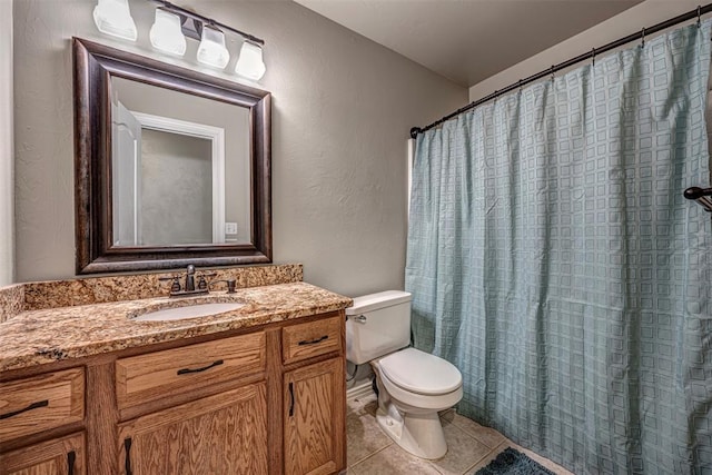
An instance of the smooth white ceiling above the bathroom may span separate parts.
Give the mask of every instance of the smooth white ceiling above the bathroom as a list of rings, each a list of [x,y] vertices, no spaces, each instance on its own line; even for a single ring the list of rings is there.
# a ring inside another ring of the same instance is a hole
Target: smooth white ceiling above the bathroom
[[[295,0],[471,87],[642,0]]]

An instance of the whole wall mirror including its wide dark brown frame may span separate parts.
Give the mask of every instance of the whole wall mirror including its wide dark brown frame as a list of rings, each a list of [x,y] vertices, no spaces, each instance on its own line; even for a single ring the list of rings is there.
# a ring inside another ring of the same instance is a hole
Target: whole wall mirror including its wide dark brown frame
[[[73,39],[77,273],[271,261],[270,95]]]

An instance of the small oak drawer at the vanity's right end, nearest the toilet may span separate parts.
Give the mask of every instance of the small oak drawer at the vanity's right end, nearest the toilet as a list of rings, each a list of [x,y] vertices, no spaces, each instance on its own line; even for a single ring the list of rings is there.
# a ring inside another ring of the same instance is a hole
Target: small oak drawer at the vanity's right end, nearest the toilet
[[[284,327],[281,348],[285,364],[342,349],[342,317]]]

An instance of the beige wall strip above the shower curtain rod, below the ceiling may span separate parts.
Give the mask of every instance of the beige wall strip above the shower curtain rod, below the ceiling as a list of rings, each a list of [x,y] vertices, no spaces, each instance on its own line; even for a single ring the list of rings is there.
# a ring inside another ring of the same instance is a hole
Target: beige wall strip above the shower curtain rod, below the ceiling
[[[620,38],[641,31],[642,28],[674,18],[694,10],[699,0],[646,0],[625,10],[575,37],[563,41],[498,75],[492,76],[469,88],[469,101],[486,97],[520,79],[536,75],[552,65],[562,63],[593,48],[602,47]]]

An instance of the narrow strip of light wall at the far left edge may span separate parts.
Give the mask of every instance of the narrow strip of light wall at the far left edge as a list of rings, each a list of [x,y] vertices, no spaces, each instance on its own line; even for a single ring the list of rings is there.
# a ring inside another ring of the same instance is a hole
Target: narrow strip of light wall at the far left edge
[[[0,287],[14,277],[12,2],[0,0]]]

